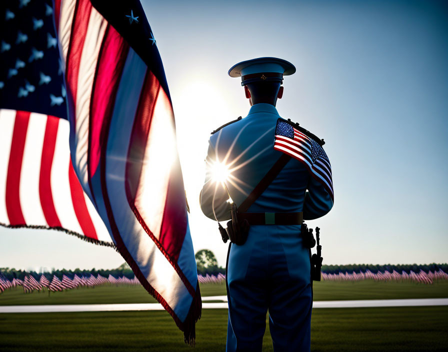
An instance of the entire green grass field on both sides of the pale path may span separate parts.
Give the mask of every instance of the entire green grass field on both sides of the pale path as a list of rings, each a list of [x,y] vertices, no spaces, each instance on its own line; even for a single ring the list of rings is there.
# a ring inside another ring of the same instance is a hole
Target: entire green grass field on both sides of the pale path
[[[225,284],[202,284],[203,296]],[[314,300],[448,297],[448,282],[314,282]],[[0,305],[155,302],[140,286],[102,285],[64,292],[0,294]],[[446,351],[448,306],[314,309],[312,351]],[[0,351],[224,351],[226,309],[204,309],[196,347],[165,311],[0,314]],[[272,351],[266,325],[263,351]]]

